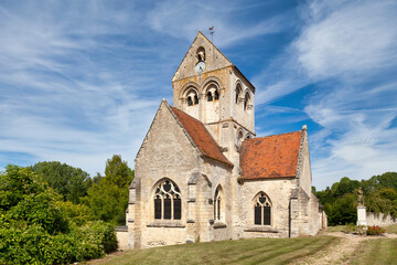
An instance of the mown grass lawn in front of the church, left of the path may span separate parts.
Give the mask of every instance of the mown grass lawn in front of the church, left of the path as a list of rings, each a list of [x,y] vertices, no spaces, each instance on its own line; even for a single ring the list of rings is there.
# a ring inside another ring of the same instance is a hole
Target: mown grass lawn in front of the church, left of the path
[[[288,264],[339,239],[253,239],[133,250],[95,264]]]

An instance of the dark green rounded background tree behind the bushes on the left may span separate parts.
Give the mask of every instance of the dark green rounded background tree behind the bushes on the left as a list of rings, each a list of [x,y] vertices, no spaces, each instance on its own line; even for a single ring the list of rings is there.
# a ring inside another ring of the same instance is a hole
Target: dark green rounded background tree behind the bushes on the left
[[[87,190],[93,183],[87,172],[57,161],[37,162],[30,169],[42,176],[64,201],[75,204],[79,203],[81,197],[87,195]]]

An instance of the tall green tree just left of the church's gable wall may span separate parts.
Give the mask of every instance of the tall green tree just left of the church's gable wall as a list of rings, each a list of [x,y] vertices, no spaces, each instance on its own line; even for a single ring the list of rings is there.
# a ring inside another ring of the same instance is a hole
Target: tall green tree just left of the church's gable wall
[[[96,219],[112,224],[125,224],[128,187],[132,179],[133,170],[121,160],[121,156],[115,155],[106,162],[105,177],[88,189],[88,195],[83,202]]]

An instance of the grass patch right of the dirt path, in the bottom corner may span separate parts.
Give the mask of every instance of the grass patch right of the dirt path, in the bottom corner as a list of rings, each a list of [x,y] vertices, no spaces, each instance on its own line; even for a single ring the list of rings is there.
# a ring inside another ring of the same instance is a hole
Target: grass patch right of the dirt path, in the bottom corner
[[[397,240],[379,239],[365,241],[362,252],[352,264],[356,265],[380,265],[397,264]]]

